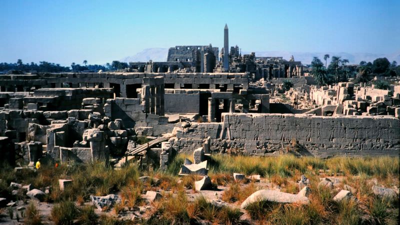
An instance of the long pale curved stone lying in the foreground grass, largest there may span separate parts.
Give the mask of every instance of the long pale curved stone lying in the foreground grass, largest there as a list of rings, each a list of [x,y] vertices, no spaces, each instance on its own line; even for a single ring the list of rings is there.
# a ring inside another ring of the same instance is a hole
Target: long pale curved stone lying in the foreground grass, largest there
[[[245,208],[247,205],[257,202],[257,201],[273,201],[273,202],[278,202],[278,203],[301,203],[305,204],[308,203],[308,197],[300,196],[297,194],[291,194],[291,193],[285,193],[285,192],[280,192],[277,190],[257,190],[254,193],[252,193],[250,196],[248,196],[243,203],[241,203],[240,207]]]

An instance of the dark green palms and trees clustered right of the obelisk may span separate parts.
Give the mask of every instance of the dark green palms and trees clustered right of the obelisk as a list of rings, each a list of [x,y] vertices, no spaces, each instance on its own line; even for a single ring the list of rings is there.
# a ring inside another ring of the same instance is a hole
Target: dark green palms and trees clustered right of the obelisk
[[[400,75],[400,66],[396,61],[391,63],[385,57],[376,58],[372,62],[360,61],[358,65],[346,65],[347,59],[340,56],[332,56],[327,64],[329,54],[325,54],[323,63],[318,57],[313,57],[309,67],[311,75],[319,85],[332,84],[334,82],[345,82],[353,78],[354,82],[368,82],[374,76]]]

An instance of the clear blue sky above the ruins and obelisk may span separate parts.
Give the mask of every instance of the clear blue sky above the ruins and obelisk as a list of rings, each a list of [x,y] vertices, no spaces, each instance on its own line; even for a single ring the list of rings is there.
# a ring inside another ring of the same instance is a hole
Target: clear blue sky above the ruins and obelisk
[[[105,63],[144,48],[400,51],[400,0],[1,0],[0,61]]]

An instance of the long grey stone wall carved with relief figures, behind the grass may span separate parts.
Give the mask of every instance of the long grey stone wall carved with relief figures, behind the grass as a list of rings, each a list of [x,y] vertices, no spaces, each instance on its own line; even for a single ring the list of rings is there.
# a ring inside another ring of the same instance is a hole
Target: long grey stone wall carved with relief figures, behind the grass
[[[393,116],[309,116],[301,114],[223,113],[221,123],[198,123],[177,130],[174,147],[196,147],[211,138],[211,150],[239,149],[247,155],[268,155],[292,146],[318,157],[391,155],[400,152],[400,120]]]

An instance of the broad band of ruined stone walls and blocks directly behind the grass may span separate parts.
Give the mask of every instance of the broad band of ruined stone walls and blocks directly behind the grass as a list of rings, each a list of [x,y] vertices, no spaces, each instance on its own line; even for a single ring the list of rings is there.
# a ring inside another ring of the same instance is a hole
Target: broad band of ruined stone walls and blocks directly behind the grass
[[[287,94],[316,107],[291,114],[269,102],[273,88],[248,73],[1,75],[1,160],[140,158],[165,169],[176,151],[274,155],[293,145],[318,157],[398,155],[398,85],[301,84]]]

